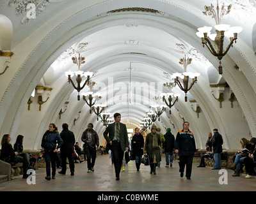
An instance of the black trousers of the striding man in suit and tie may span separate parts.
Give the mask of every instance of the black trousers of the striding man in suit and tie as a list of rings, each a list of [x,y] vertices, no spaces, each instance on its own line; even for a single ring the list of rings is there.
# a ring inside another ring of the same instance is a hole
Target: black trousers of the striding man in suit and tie
[[[113,163],[115,166],[116,177],[119,177],[122,167],[122,161],[124,158],[124,151],[122,150],[120,142],[117,142],[115,140],[112,141],[111,151],[113,153]]]

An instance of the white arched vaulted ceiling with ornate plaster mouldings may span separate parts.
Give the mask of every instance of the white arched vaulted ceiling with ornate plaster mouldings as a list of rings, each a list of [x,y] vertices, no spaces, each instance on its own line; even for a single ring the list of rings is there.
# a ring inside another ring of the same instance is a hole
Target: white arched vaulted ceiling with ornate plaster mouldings
[[[36,16],[30,18],[27,13],[33,5],[26,9],[28,1],[2,1],[0,47],[13,55],[1,58],[9,66],[0,75],[1,135],[28,135],[27,148],[38,149],[50,122],[59,129],[67,122],[77,140],[93,122],[104,143],[102,122],[89,113],[83,99],[77,101],[77,91],[65,76],[65,71],[77,70],[71,58],[81,54],[85,57],[81,70],[93,72],[93,92],[102,94],[97,103],[108,105],[111,117],[120,112],[129,128],[140,126],[150,105],[164,104],[161,92],[172,91],[180,94],[179,101],[172,114],[166,108],[156,121],[163,133],[165,128],[177,133],[188,120],[198,148],[204,148],[207,133],[218,128],[226,149],[239,146],[241,135],[256,136],[255,1],[219,3],[232,4],[221,23],[243,27],[237,43],[221,60],[222,75],[218,59],[196,36],[198,27],[215,25],[211,16],[202,13],[211,3],[215,8],[216,1],[205,0],[41,0],[33,3]],[[179,61],[185,55],[193,59],[188,71],[200,73],[188,92],[188,102],[177,85],[172,90],[164,86],[173,82],[173,73],[183,72]],[[30,97],[35,87],[44,88]],[[81,92],[87,91],[88,86]],[[220,93],[225,97],[222,103]],[[232,94],[236,96],[233,106]],[[38,96],[43,102],[48,98],[41,110]],[[65,111],[61,116],[60,110]]]

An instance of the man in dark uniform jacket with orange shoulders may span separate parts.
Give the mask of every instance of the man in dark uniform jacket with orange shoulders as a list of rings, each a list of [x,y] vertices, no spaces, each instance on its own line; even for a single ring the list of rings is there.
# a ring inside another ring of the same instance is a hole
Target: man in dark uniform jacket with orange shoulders
[[[195,137],[189,130],[189,122],[183,123],[183,129],[177,133],[175,140],[175,153],[179,153],[180,177],[184,175],[186,166],[186,178],[191,180],[193,156],[196,152]]]

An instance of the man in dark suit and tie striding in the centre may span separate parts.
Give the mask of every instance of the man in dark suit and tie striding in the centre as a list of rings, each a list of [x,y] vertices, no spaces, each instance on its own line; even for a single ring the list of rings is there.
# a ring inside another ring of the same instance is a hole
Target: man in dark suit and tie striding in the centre
[[[120,122],[120,113],[114,114],[115,122],[108,125],[103,133],[107,141],[106,152],[110,149],[113,153],[113,163],[115,166],[116,180],[120,180],[120,171],[124,158],[124,151],[128,150],[128,134],[125,124]]]

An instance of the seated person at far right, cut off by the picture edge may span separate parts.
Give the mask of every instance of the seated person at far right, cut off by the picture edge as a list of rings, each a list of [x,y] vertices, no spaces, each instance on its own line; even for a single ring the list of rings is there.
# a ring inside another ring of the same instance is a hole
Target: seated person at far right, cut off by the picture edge
[[[254,178],[254,175],[256,175],[254,171],[254,168],[256,166],[256,151],[255,151],[256,138],[252,138],[250,142],[252,144],[250,153],[248,157],[244,159],[245,169],[246,169],[246,172],[248,173],[248,175],[246,175],[245,177],[246,179],[252,179]]]

